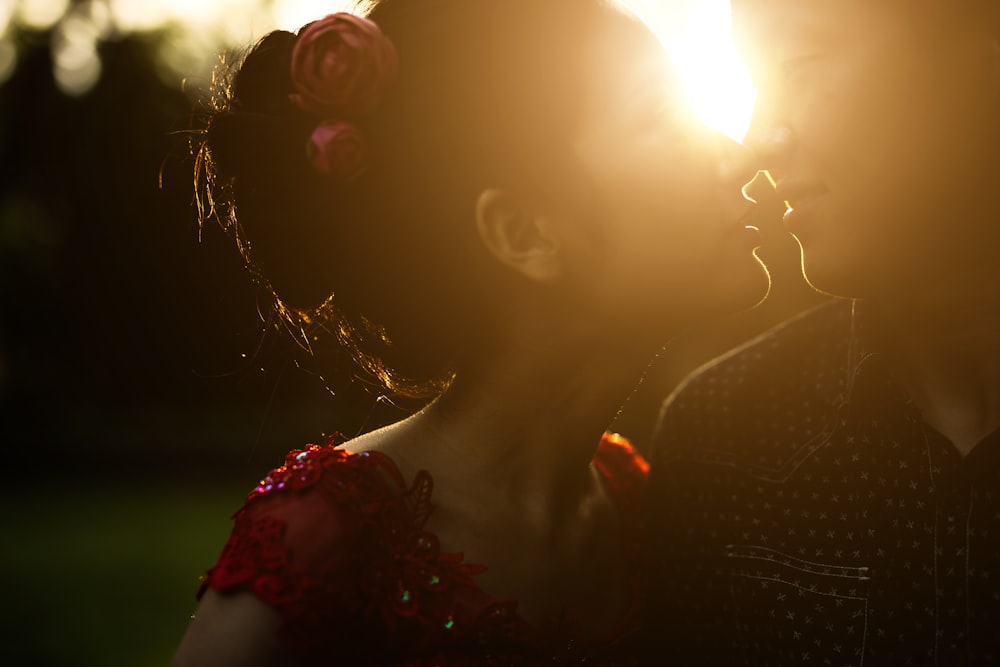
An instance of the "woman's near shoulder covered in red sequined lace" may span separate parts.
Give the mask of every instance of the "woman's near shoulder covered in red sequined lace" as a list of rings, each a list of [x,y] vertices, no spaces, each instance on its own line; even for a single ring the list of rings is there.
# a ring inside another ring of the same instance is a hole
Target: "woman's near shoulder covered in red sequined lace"
[[[482,571],[424,530],[432,490],[429,473],[408,479],[382,451],[334,438],[292,450],[234,515],[199,595],[251,593],[278,612],[281,643],[299,653],[335,638],[417,641],[417,626],[445,627],[449,611],[422,597],[471,587]]]

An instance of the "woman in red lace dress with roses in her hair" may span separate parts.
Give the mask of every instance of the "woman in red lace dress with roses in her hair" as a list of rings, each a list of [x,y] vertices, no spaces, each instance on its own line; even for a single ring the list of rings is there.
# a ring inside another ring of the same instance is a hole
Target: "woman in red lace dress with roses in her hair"
[[[602,434],[767,288],[752,166],[671,81],[601,0],[383,0],[248,55],[202,201],[293,330],[433,400],[261,482],[175,667],[629,660],[646,466]]]

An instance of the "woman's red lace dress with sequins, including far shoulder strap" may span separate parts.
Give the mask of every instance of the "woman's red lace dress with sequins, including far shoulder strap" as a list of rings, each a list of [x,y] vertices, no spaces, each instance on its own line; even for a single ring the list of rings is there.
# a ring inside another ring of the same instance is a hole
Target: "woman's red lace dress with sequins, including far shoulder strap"
[[[430,474],[407,484],[385,454],[351,454],[330,441],[292,451],[250,493],[199,596],[251,591],[279,612],[280,640],[309,664],[633,664],[648,466],[611,434],[594,463],[636,561],[631,611],[601,637],[580,636],[570,619],[535,627],[516,601],[490,597],[475,581],[485,566],[441,552],[424,530]]]

